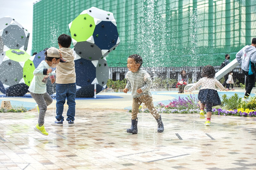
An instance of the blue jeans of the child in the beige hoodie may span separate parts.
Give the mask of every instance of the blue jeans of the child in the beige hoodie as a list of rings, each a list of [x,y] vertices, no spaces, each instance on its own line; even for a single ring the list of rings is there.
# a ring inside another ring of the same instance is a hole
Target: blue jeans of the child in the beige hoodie
[[[76,112],[76,83],[57,84],[56,83],[56,119],[64,120],[62,116],[64,104],[68,104],[67,121],[75,120]]]

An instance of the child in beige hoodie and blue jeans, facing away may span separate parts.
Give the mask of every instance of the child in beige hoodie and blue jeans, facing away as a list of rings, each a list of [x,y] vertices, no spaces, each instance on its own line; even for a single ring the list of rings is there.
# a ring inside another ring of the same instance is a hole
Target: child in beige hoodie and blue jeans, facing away
[[[75,125],[76,112],[76,72],[74,54],[70,47],[71,37],[67,34],[61,34],[58,37],[58,44],[62,57],[67,61],[60,63],[56,67],[56,120],[52,125],[63,126],[64,117],[62,116],[64,104],[67,98],[68,111],[67,121],[68,126]]]

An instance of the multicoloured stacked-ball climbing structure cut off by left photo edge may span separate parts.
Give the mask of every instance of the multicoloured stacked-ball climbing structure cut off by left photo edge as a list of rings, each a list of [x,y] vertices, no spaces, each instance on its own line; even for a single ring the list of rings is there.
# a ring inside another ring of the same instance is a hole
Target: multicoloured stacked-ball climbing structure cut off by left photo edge
[[[29,33],[17,21],[0,18],[0,91],[23,96],[33,79],[35,66],[26,53]]]

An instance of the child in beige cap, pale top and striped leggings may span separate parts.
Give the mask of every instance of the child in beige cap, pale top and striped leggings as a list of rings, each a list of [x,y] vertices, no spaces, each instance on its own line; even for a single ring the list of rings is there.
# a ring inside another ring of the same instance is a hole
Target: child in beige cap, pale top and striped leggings
[[[42,61],[38,67],[34,70],[33,74],[34,77],[31,81],[31,84],[28,88],[28,91],[31,94],[31,97],[36,101],[38,104],[38,124],[34,126],[34,129],[43,134],[48,135],[44,128],[44,116],[47,110],[47,106],[52,103],[52,97],[46,92],[46,76],[49,74],[49,77],[54,83],[55,78],[52,73],[52,68],[56,67],[59,62],[66,62],[61,57],[60,50],[51,47],[47,51],[45,51],[45,60]]]

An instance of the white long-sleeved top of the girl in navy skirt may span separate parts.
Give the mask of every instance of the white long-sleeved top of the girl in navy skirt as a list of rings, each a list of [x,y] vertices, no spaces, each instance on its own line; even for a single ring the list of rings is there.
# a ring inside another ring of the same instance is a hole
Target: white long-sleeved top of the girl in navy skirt
[[[190,87],[188,89],[189,92],[197,89],[199,86],[202,86],[200,88],[201,89],[213,89],[213,90],[217,90],[215,86],[217,86],[218,88],[220,88],[221,90],[225,90],[225,87],[220,83],[220,81],[218,81],[215,78],[207,78],[207,77],[203,77],[202,79],[200,79],[199,81],[196,82],[195,85],[193,85],[192,87]]]

